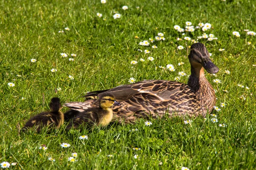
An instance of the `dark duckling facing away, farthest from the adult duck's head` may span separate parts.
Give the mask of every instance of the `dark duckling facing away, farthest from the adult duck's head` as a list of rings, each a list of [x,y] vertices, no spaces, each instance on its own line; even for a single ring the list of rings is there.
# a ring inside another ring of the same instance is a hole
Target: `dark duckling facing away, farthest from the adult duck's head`
[[[64,114],[61,112],[61,108],[60,99],[58,97],[52,98],[50,111],[41,112],[29,119],[22,130],[33,128],[35,131],[40,132],[44,126],[59,129],[64,123]]]

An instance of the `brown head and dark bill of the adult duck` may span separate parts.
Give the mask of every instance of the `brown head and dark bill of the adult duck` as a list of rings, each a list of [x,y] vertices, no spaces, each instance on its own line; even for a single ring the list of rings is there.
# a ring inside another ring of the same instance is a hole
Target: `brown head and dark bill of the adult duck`
[[[200,42],[191,45],[189,62],[194,68],[201,68],[203,66],[208,73],[215,74],[219,71],[219,68],[211,61],[206,47]]]

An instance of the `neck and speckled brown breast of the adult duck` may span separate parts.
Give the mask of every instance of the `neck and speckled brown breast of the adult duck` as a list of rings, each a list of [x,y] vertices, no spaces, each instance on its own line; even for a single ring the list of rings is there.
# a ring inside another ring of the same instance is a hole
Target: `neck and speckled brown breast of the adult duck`
[[[205,116],[207,110],[211,112],[216,103],[216,97],[212,85],[204,77],[203,67],[195,68],[191,66],[191,76],[189,77],[188,85],[195,91],[203,109],[203,115]]]

